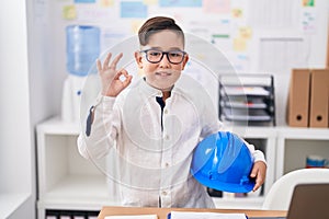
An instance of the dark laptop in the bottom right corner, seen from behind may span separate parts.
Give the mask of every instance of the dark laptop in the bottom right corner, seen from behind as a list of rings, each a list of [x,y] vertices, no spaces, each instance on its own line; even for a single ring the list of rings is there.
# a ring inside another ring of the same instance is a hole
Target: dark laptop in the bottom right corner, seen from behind
[[[249,219],[329,219],[329,183],[297,184],[286,217]]]

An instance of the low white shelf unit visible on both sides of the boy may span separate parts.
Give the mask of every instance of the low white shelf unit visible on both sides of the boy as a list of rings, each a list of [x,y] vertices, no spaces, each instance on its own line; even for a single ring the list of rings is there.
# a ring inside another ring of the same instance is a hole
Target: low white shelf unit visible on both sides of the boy
[[[329,129],[239,127],[231,131],[264,152],[268,173],[261,191],[247,197],[214,197],[217,208],[259,209],[273,183],[283,174],[305,168],[307,154],[329,158]],[[46,209],[100,210],[111,201],[106,176],[78,152],[79,126],[58,118],[37,126],[38,218]]]

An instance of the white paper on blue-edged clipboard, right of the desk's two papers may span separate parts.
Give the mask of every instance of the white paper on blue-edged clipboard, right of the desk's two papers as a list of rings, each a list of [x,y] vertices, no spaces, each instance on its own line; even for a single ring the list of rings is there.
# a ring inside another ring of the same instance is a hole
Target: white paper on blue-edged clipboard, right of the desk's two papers
[[[171,211],[170,219],[246,219],[245,214]]]

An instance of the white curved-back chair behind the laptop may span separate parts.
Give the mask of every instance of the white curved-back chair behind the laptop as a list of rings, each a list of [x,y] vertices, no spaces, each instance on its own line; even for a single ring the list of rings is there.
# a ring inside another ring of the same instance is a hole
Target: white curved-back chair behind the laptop
[[[262,209],[288,210],[295,185],[306,183],[329,183],[329,169],[300,169],[286,173],[274,182]]]

